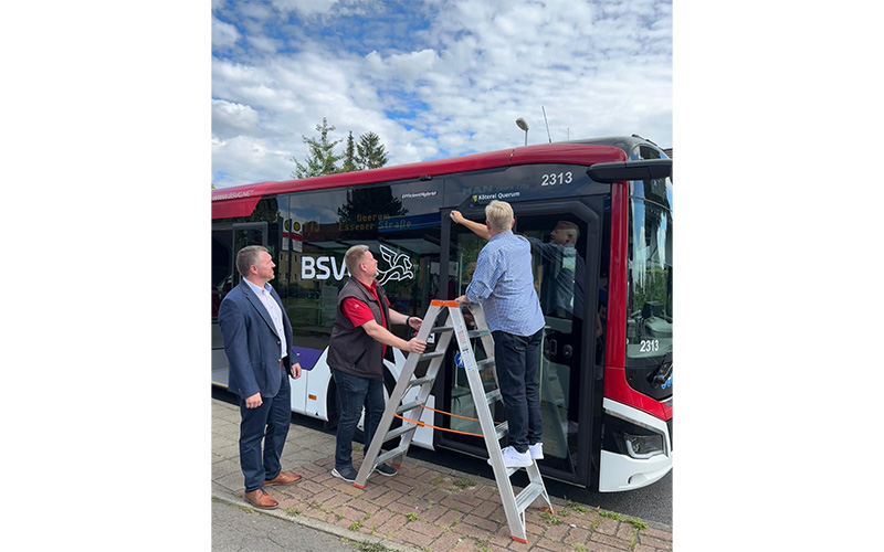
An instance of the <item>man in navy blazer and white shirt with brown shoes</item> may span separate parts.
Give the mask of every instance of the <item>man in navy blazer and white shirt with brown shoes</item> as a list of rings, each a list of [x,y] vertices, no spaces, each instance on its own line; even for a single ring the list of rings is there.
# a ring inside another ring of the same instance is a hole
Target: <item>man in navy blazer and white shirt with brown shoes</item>
[[[301,479],[298,475],[282,471],[280,465],[292,417],[288,378],[301,378],[301,362],[292,349],[288,316],[269,284],[275,266],[266,247],[250,245],[240,250],[236,269],[243,279],[224,297],[218,311],[224,352],[230,361],[228,390],[240,399],[244,497],[262,509],[278,506],[264,487]]]

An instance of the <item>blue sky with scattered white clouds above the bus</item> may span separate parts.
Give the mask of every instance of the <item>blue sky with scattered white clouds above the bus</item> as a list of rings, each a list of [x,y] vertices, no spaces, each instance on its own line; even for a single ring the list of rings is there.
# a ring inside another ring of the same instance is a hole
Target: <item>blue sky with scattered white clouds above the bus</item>
[[[323,117],[388,166],[524,145],[519,117],[672,147],[672,28],[667,0],[213,0],[212,183],[291,179]]]

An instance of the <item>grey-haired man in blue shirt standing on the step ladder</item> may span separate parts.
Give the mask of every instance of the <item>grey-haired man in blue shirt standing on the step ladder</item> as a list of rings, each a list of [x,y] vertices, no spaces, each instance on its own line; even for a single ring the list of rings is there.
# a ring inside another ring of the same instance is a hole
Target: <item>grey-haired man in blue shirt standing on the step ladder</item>
[[[485,311],[509,425],[509,446],[502,450],[504,465],[526,467],[544,457],[538,383],[544,314],[533,285],[530,244],[512,231],[513,208],[492,201],[485,219],[488,243],[478,252],[466,293],[455,300],[478,302]]]

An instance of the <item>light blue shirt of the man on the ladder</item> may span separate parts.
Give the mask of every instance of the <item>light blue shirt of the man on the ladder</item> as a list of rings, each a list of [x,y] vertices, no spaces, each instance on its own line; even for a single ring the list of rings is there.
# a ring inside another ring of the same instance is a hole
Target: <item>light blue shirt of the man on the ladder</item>
[[[528,337],[545,325],[534,290],[530,244],[511,230],[492,237],[478,252],[465,295],[482,305],[491,331]]]

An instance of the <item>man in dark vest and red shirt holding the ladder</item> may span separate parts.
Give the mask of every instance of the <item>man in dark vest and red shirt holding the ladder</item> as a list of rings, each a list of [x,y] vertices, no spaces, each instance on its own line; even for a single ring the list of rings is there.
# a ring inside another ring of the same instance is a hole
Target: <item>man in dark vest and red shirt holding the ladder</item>
[[[417,330],[423,320],[390,308],[383,286],[376,280],[378,262],[367,245],[347,250],[344,263],[350,279],[338,294],[327,359],[340,404],[332,475],[352,482],[357,476],[352,467],[352,437],[362,405],[366,407],[365,450],[371,445],[383,415],[383,358],[388,351],[392,353],[389,347],[420,354],[427,349],[427,342],[417,338],[406,341],[390,332],[391,323]],[[388,477],[397,474],[396,468],[387,464],[379,465],[375,471]]]

